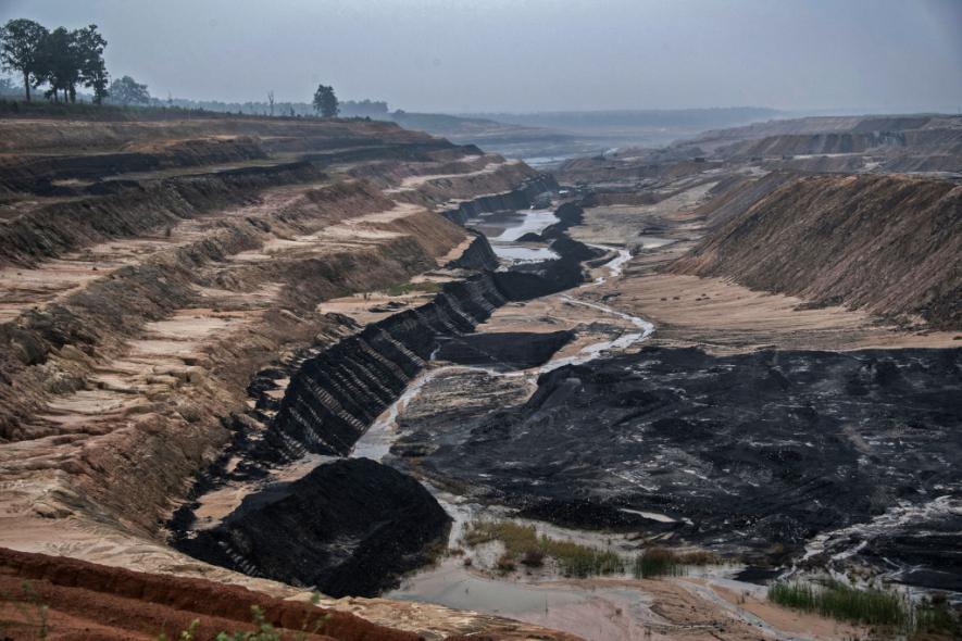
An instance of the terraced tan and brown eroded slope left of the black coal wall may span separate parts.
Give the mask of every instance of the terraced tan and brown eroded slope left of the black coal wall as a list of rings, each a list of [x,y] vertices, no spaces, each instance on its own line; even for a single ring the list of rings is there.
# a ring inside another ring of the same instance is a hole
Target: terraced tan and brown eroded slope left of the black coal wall
[[[127,143],[180,131],[171,123],[92,128],[127,136],[141,125],[150,136]],[[87,131],[30,127],[41,147],[46,134]],[[326,131],[310,139],[336,151],[372,142],[365,127],[289,133]],[[424,137],[388,129],[392,144],[418,144],[409,171],[436,171]],[[442,165],[458,158],[446,144]],[[342,336],[336,318],[316,312],[320,301],[402,282],[466,240],[437,214],[304,162],[118,181],[104,180],[110,167],[96,159],[91,166],[96,194],[17,205],[0,227],[9,265],[0,272],[0,438],[9,441],[0,464],[16,483],[5,523],[18,525],[4,529],[15,544],[29,536],[20,519],[39,515],[124,515],[122,529],[155,532],[185,480],[229,442],[221,418],[243,405],[257,370],[285,350]],[[488,174],[500,183],[525,172]]]

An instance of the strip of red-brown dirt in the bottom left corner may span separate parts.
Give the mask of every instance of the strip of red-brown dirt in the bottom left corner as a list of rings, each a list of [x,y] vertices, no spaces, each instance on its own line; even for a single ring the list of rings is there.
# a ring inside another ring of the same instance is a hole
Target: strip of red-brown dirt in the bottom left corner
[[[0,549],[0,641],[157,640],[161,634],[175,641],[195,620],[192,639],[197,641],[220,632],[233,639],[235,631],[258,629],[252,623],[254,607],[285,640],[420,639],[348,613],[236,586]]]

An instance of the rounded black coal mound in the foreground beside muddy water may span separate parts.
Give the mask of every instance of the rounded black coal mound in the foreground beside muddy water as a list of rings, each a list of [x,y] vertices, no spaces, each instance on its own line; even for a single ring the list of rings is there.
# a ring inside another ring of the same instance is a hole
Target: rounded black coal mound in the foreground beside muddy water
[[[374,596],[423,565],[450,518],[421,483],[367,458],[314,468],[265,489],[213,529],[176,542],[188,554],[330,596]]]

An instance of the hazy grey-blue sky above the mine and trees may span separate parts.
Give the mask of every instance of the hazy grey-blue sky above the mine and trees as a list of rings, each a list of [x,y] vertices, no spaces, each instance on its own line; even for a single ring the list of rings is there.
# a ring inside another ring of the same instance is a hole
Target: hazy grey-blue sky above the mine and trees
[[[0,0],[154,96],[408,111],[962,108],[962,0]]]

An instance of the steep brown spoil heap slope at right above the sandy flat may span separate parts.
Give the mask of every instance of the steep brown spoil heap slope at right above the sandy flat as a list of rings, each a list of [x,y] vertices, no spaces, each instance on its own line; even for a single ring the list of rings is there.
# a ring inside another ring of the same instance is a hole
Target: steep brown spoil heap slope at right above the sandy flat
[[[762,196],[671,271],[962,327],[962,187],[812,176]]]

